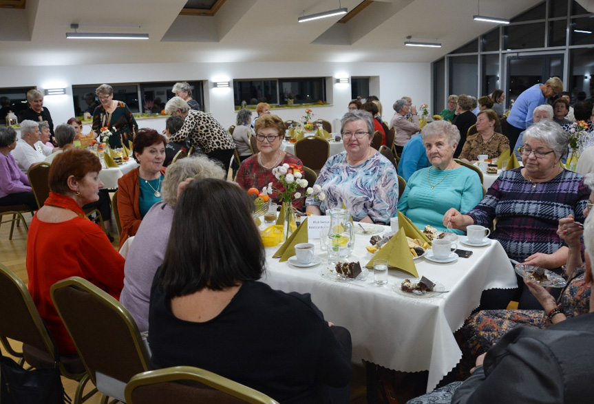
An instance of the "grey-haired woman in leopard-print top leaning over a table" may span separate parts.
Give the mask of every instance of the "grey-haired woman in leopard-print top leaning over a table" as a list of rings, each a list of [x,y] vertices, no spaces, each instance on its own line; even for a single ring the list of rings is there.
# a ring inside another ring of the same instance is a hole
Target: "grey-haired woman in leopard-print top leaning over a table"
[[[184,118],[182,129],[171,136],[169,140],[180,142],[189,138],[191,145],[200,147],[206,156],[218,160],[225,173],[229,171],[235,143],[218,120],[211,114],[190,109],[189,105],[180,97],[173,97],[167,101],[165,113]]]

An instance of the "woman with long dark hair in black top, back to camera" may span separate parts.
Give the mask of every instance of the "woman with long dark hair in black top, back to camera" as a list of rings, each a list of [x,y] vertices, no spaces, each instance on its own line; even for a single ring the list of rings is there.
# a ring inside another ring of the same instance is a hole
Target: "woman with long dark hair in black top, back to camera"
[[[252,212],[224,180],[182,191],[151,288],[151,364],[209,370],[281,403],[326,403],[324,387],[345,386],[332,398],[346,403],[350,334],[324,321],[309,295],[259,281],[266,254]]]

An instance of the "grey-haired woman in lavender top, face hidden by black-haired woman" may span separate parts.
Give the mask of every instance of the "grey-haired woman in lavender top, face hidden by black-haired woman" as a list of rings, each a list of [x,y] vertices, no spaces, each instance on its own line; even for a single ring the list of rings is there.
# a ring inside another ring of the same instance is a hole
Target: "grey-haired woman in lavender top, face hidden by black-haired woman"
[[[140,332],[149,330],[151,284],[165,258],[178,186],[187,178],[222,178],[223,169],[206,156],[178,160],[167,168],[163,180],[163,200],[151,207],[126,256],[124,288],[120,303],[128,309]]]

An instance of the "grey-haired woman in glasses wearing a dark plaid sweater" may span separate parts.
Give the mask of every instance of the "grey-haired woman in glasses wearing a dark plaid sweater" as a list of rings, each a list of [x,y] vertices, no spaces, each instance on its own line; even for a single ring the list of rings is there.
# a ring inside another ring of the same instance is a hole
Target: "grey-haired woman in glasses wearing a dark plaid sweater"
[[[489,227],[497,219],[491,238],[501,243],[510,259],[559,268],[567,261],[567,247],[557,234],[558,221],[573,215],[583,223],[590,190],[583,176],[559,164],[568,144],[559,125],[550,120],[535,123],[523,138],[524,167],[503,171],[474,209],[464,215],[449,209],[443,223],[451,222],[453,228],[465,231],[471,224]],[[482,308],[505,308],[510,300],[518,299],[518,293],[519,308],[538,308],[522,285],[519,290],[487,290]]]

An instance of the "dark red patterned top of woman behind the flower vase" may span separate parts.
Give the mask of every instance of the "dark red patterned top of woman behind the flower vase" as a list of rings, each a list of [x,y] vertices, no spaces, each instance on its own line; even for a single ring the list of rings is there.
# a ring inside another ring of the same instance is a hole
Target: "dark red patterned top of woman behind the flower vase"
[[[246,158],[240,167],[240,171],[237,171],[237,184],[240,184],[240,187],[243,189],[250,189],[252,187],[259,189],[262,191],[262,188],[267,187],[269,182],[273,183],[273,193],[268,193],[268,196],[277,204],[281,204],[282,200],[279,199],[278,190],[284,192],[285,189],[280,182],[276,179],[273,175],[272,169],[267,169],[263,167],[258,162],[258,155],[259,153],[255,153],[253,156]],[[301,160],[297,157],[293,156],[293,154],[286,153],[285,158],[279,162],[277,165],[282,164],[297,164],[303,165]],[[273,167],[274,168],[274,167]],[[308,187],[311,187],[312,184],[308,184]],[[305,194],[305,189],[301,192],[301,195]],[[301,209],[304,204],[304,198],[299,198],[298,200],[293,200],[293,206],[295,209]]]

